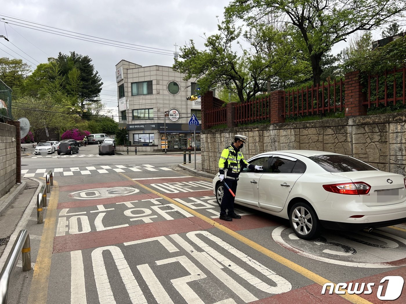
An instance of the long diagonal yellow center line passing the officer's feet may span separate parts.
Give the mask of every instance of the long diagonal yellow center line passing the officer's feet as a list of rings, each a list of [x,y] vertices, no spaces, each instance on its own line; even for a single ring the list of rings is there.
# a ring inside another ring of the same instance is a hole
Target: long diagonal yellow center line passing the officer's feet
[[[127,178],[128,180],[131,180],[132,182],[134,182],[138,186],[144,188],[145,190],[147,190],[147,191],[149,191],[149,192],[151,192],[151,193],[153,193],[155,195],[158,195],[159,197],[162,197],[163,199],[165,199],[167,201],[170,201],[174,205],[186,210],[190,214],[193,214],[194,216],[202,219],[203,221],[209,223],[210,225],[224,231],[225,233],[231,235],[233,238],[236,238],[240,242],[243,242],[244,244],[250,246],[251,248],[259,251],[260,253],[263,253],[264,255],[266,255],[268,257],[270,257],[271,259],[274,259],[278,263],[281,263],[282,265],[285,265],[286,267],[296,271],[297,273],[301,274],[302,276],[305,276],[306,278],[312,280],[313,282],[315,282],[315,283],[317,283],[317,284],[319,284],[321,286],[323,286],[325,283],[332,283],[331,281],[327,280],[326,278],[323,278],[322,276],[319,276],[318,274],[315,274],[314,272],[311,272],[310,270],[308,270],[308,269],[306,269],[306,268],[304,268],[304,267],[302,267],[302,266],[300,266],[300,265],[298,265],[298,264],[296,264],[296,263],[294,263],[292,261],[289,261],[285,257],[282,257],[281,255],[278,255],[277,253],[274,253],[273,251],[269,250],[268,248],[265,248],[265,247],[255,243],[255,242],[253,242],[252,240],[242,236],[241,234],[239,234],[239,233],[237,233],[237,232],[235,232],[235,231],[233,231],[233,230],[231,230],[231,229],[229,229],[227,227],[224,227],[220,223],[217,223],[217,222],[213,221],[211,218],[208,218],[208,217],[200,214],[199,212],[196,212],[193,209],[184,206],[183,204],[175,201],[174,199],[171,199],[171,198],[169,198],[169,197],[167,197],[167,196],[165,196],[165,195],[163,195],[163,194],[161,194],[161,193],[159,193],[159,192],[157,192],[157,191],[155,191],[155,190],[153,190],[153,189],[151,189],[151,188],[149,188],[149,187],[147,187],[147,186],[145,186],[145,185],[143,185],[143,184],[141,184],[141,183],[139,183],[139,182],[137,182],[135,180],[133,180],[132,178],[126,176],[123,173],[119,173],[119,174],[121,176]],[[355,295],[355,294],[351,295],[351,294],[347,293],[347,291],[343,295],[340,294],[340,296],[343,297],[344,299],[352,302],[352,303],[355,303],[355,304],[372,304],[368,300],[365,300],[364,298],[361,298],[358,295]]]

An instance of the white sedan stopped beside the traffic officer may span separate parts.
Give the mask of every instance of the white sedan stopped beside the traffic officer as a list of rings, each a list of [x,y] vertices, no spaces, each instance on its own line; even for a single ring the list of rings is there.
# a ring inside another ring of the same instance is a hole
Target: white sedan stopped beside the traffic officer
[[[299,238],[316,238],[322,227],[371,231],[406,222],[406,179],[400,174],[324,151],[266,152],[248,162],[264,169],[242,170],[235,203],[289,219]],[[219,204],[224,191],[217,174],[213,193]]]

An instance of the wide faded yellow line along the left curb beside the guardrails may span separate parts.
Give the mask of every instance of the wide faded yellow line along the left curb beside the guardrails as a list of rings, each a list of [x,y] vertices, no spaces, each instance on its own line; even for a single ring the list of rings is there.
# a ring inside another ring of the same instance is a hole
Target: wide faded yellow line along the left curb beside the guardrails
[[[54,233],[56,223],[56,207],[58,206],[59,187],[54,181],[54,186],[51,188],[51,195],[44,223],[41,242],[35,262],[34,274],[28,293],[27,304],[47,302],[48,297],[48,282],[51,270],[52,247],[54,245]]]

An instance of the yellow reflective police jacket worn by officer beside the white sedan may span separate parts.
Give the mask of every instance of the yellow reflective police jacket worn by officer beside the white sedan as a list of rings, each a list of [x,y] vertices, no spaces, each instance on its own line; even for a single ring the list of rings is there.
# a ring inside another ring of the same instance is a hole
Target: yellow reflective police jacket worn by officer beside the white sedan
[[[218,161],[218,171],[224,174],[227,169],[226,178],[231,180],[238,180],[240,172],[245,167],[254,169],[254,165],[250,165],[242,155],[240,149],[235,148],[233,144],[224,148],[221,152],[220,160]]]

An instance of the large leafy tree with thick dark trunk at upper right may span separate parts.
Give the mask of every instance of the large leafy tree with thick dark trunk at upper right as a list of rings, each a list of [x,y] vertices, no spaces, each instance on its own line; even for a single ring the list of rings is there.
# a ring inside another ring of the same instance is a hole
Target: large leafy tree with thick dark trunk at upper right
[[[405,0],[234,0],[225,17],[245,20],[248,26],[263,15],[276,14],[301,34],[311,63],[313,84],[320,83],[322,57],[333,45],[359,30],[372,30],[403,16]]]

